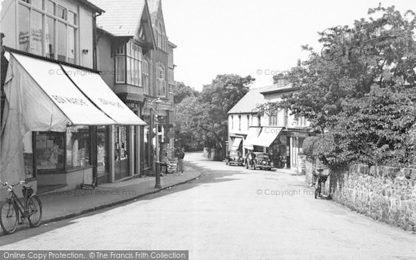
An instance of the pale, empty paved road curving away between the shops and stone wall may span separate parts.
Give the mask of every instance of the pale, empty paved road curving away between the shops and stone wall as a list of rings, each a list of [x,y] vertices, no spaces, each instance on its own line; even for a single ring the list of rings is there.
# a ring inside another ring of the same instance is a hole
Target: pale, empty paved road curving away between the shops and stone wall
[[[416,235],[328,200],[300,177],[186,159],[202,176],[0,239],[0,250],[189,250],[190,259],[416,259]]]

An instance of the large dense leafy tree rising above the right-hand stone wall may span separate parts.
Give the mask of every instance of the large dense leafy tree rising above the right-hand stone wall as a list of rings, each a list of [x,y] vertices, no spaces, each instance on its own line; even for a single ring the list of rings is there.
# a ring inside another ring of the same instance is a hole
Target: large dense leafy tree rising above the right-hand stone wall
[[[379,18],[320,33],[324,48],[286,75],[299,91],[270,106],[305,116],[320,132],[313,154],[329,165],[410,164],[416,123],[415,13],[370,8]]]

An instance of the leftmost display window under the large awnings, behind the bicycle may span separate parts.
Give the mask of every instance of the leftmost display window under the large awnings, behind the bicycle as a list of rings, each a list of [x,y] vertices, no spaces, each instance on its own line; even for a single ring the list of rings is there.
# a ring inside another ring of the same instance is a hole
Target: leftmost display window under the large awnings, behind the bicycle
[[[37,132],[37,171],[64,170],[64,132]]]

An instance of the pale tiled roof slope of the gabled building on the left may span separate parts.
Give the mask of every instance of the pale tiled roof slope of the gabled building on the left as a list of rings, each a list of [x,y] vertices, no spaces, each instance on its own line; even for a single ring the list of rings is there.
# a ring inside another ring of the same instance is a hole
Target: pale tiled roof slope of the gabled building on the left
[[[146,0],[90,0],[105,10],[97,17],[97,28],[102,28],[114,36],[134,36]]]

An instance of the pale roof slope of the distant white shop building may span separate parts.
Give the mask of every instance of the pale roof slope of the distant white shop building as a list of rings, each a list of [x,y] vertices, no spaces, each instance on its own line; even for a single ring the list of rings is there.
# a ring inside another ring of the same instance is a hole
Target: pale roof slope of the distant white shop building
[[[266,87],[257,87],[255,89],[250,89],[250,91],[240,99],[239,102],[228,111],[228,114],[241,114],[241,113],[252,113],[258,112],[257,105],[266,103],[264,96],[261,94],[264,90],[270,88]]]

